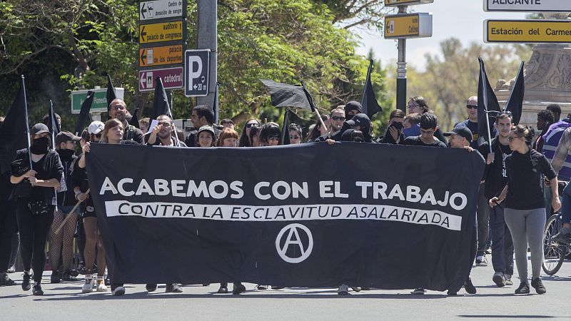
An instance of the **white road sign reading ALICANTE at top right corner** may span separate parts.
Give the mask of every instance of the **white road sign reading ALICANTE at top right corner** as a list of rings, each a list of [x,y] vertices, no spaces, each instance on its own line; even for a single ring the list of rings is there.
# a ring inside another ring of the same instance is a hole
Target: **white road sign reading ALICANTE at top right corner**
[[[484,11],[571,11],[571,0],[484,0]]]

